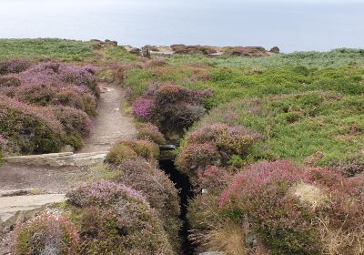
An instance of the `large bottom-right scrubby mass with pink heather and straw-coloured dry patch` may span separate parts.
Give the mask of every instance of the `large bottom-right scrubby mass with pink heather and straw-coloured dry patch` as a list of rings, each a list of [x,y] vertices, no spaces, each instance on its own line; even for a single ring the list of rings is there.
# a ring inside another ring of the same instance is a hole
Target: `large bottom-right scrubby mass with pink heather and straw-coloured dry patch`
[[[359,185],[328,168],[305,171],[288,161],[263,162],[235,177],[219,207],[230,219],[248,220],[274,254],[360,254]]]

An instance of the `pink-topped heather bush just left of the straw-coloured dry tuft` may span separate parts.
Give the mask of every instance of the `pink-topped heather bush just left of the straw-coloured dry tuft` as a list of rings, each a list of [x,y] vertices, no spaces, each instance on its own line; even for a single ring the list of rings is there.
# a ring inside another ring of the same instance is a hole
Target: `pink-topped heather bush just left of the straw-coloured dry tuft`
[[[288,161],[258,163],[235,177],[219,207],[238,222],[248,219],[251,230],[274,254],[318,254],[315,215],[289,195],[302,176],[302,169]]]

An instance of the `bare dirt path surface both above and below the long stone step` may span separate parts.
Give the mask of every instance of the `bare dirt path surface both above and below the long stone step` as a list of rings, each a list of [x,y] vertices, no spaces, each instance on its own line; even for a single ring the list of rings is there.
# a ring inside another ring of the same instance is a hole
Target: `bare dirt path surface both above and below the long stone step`
[[[133,118],[126,117],[120,109],[124,100],[121,87],[101,84],[101,94],[94,119],[94,127],[85,146],[77,153],[105,152],[117,140],[136,136]],[[5,164],[0,167],[0,191],[13,189],[45,189],[46,192],[65,192],[74,186],[72,179],[78,173],[85,173],[87,167],[49,166],[31,167]],[[71,179],[71,181],[70,181]],[[69,183],[71,182],[71,183]]]

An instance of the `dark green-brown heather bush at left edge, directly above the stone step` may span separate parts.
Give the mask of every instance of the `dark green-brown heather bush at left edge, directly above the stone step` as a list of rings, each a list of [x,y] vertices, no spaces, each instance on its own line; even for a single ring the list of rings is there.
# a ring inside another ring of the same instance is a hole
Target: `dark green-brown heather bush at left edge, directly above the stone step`
[[[0,133],[23,153],[56,152],[62,146],[62,125],[45,110],[0,95]]]

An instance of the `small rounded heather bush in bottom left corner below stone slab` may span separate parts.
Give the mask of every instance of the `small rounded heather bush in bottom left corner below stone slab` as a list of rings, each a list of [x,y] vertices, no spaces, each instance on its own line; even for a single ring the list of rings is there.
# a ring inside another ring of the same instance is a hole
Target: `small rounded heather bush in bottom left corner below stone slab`
[[[76,227],[68,219],[43,212],[15,227],[15,255],[79,254]]]

